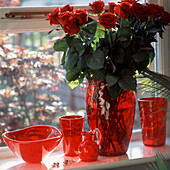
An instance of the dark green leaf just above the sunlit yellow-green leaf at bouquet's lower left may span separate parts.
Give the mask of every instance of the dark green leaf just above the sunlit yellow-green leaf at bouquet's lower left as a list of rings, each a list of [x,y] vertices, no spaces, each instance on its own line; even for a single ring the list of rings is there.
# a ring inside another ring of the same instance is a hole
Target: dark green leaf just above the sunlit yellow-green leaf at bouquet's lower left
[[[80,75],[80,72],[77,71],[77,67],[73,67],[66,73],[67,82],[75,81]]]

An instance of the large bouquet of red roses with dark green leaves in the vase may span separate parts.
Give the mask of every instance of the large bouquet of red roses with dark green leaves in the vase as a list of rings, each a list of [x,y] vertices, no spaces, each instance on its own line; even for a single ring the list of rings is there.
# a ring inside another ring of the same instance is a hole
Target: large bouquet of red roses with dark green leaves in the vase
[[[70,85],[88,80],[106,81],[115,99],[122,89],[136,90],[136,73],[170,90],[170,82],[148,70],[154,59],[155,36],[162,37],[170,13],[162,6],[137,0],[94,1],[90,9],[66,5],[48,15],[51,25],[60,25],[65,36],[54,44],[63,51],[62,65]],[[155,79],[155,74],[159,78]],[[163,82],[163,83],[162,83]],[[161,84],[162,83],[162,84]],[[168,94],[169,95],[169,94]]]

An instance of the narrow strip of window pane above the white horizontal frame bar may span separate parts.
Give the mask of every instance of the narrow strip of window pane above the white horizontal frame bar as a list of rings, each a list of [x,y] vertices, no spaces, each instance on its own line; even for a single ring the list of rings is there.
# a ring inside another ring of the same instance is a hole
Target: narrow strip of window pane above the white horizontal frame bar
[[[106,4],[108,2],[118,2],[119,0],[103,0]],[[140,0],[143,3],[145,0]],[[94,2],[94,0],[2,0],[0,1],[0,7],[9,7],[9,6],[56,6],[56,5],[88,5],[89,3]]]

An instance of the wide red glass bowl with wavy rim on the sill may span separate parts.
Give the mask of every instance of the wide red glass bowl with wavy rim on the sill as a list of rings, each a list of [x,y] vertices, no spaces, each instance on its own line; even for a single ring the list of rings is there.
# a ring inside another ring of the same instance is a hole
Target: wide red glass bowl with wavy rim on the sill
[[[40,163],[60,143],[61,132],[52,126],[38,125],[2,134],[5,143],[28,163]]]

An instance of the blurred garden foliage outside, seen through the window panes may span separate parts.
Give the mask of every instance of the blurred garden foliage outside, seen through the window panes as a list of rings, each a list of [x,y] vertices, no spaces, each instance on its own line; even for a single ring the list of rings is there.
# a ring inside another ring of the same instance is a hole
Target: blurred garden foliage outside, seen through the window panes
[[[34,3],[35,2],[35,3]],[[1,0],[1,7],[89,3],[76,0]],[[113,2],[113,0],[112,0]],[[60,66],[62,53],[54,52],[53,42],[62,36],[47,33],[0,34],[0,146],[1,134],[26,126],[48,124],[59,128],[59,116],[85,114],[87,83],[71,89]],[[87,118],[85,117],[85,120]],[[135,129],[140,128],[139,115]],[[85,123],[85,129],[88,129]]]

